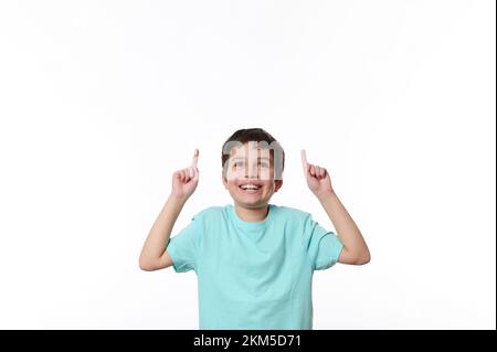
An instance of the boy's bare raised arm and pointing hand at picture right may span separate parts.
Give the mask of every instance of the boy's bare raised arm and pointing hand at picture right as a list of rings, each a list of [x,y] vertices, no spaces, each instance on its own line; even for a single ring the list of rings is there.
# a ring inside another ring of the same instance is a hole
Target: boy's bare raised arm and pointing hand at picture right
[[[305,150],[302,151],[302,162],[307,184],[317,196],[343,245],[338,258],[339,263],[363,265],[369,263],[371,255],[368,245],[343,204],[331,186],[331,179],[325,168],[307,162]]]

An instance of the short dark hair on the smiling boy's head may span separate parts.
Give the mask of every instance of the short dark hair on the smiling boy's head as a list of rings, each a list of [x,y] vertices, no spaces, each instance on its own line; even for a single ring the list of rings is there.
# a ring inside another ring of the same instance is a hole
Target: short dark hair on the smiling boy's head
[[[269,152],[273,154],[274,160],[274,170],[275,170],[275,179],[281,180],[283,175],[283,169],[285,168],[285,151],[283,150],[279,142],[271,136],[269,132],[265,131],[262,128],[246,128],[239,129],[236,132],[230,136],[226,141],[223,143],[222,149],[222,166],[224,172],[226,170],[226,161],[230,159],[230,153],[233,147],[236,145],[244,145],[250,141],[256,141],[261,143],[261,148],[269,149]],[[267,143],[267,145],[266,145]],[[276,152],[275,152],[276,151]],[[281,160],[279,160],[281,156]],[[278,162],[281,161],[281,163]]]

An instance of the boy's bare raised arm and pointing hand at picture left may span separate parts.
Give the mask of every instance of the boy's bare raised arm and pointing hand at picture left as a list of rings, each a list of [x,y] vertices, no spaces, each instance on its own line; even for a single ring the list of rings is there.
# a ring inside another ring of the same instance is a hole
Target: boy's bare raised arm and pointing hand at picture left
[[[172,175],[172,192],[155,221],[141,249],[139,266],[142,270],[152,271],[172,265],[166,245],[184,203],[193,194],[199,183],[198,158],[199,151],[195,149],[191,166],[176,171]]]

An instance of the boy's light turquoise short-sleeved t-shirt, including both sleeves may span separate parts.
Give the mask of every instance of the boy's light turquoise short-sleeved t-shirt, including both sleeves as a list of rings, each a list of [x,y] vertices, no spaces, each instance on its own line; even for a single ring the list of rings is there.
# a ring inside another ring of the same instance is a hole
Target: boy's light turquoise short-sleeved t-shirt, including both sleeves
[[[208,207],[170,238],[177,273],[194,270],[200,329],[313,329],[314,270],[331,267],[342,244],[309,213],[269,205],[263,222],[233,205]]]

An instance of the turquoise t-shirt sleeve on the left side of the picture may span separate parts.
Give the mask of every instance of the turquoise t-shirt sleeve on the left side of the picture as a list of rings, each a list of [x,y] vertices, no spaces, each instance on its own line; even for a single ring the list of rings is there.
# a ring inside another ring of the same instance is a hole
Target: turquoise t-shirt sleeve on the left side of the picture
[[[176,273],[195,270],[201,231],[200,220],[193,216],[187,227],[169,238],[166,249],[172,259],[172,267]]]

